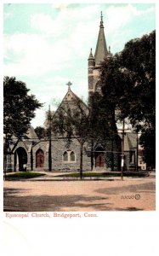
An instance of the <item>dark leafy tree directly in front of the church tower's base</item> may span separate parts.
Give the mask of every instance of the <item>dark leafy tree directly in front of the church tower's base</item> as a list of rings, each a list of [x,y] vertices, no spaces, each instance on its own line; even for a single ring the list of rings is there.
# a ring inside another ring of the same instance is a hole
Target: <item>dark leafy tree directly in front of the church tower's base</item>
[[[106,166],[111,167],[111,170],[114,170],[114,154],[113,151],[120,151],[119,137],[117,136],[116,128],[116,119],[114,107],[111,106],[108,102],[105,101],[105,98],[100,95],[98,92],[94,94],[89,99],[89,111],[90,111],[90,126],[91,131],[89,133],[91,141],[91,160],[92,166],[93,161],[93,152],[99,144],[103,147],[109,146],[111,153],[106,155]]]

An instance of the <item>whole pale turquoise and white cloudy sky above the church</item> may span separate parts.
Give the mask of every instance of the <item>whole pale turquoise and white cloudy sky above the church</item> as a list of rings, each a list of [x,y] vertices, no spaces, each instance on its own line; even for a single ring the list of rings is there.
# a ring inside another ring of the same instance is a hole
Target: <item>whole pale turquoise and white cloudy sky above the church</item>
[[[88,98],[88,55],[95,52],[103,13],[112,54],[129,40],[156,29],[154,3],[5,3],[3,75],[26,83],[43,102],[31,125],[43,126],[45,112],[57,108],[71,90]]]

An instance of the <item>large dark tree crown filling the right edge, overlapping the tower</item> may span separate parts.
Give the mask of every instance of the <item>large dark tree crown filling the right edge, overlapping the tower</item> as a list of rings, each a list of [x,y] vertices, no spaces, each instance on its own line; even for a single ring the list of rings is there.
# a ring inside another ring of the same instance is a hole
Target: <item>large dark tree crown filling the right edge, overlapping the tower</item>
[[[101,83],[105,101],[119,110],[118,118],[128,118],[142,132],[140,143],[149,145],[145,155],[155,155],[150,138],[156,130],[156,32],[129,41],[122,52],[106,59]]]

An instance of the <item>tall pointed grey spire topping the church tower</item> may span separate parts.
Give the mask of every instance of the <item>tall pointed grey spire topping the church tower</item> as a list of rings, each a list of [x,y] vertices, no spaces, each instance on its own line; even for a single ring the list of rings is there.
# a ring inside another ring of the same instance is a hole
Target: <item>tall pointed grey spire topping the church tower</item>
[[[106,48],[103,15],[101,12],[100,26],[99,26],[99,37],[98,37],[95,55],[94,55],[95,67],[99,66],[101,61],[104,61],[104,58],[106,55],[108,55],[108,50]]]

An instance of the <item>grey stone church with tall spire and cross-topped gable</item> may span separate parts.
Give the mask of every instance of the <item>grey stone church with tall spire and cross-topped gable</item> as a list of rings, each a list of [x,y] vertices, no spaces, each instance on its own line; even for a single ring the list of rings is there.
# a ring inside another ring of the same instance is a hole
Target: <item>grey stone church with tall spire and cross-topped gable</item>
[[[91,96],[94,91],[100,92],[99,73],[100,62],[104,58],[111,56],[111,48],[107,49],[104,31],[103,16],[101,15],[99,24],[99,35],[96,44],[95,54],[93,55],[92,49],[88,56],[88,96]],[[76,94],[71,90],[71,83],[68,83],[68,91],[63,98],[61,104],[71,102],[74,99],[79,99]],[[81,100],[82,101],[82,100]],[[82,102],[84,108],[86,104]],[[58,109],[56,110],[56,112]],[[54,115],[56,114],[54,113]],[[84,145],[83,150],[83,170],[84,171],[119,171],[121,168],[121,151],[122,151],[122,134],[119,131],[118,145],[109,141],[99,143],[94,148],[94,159],[90,157],[90,147],[88,143]],[[16,141],[16,138],[14,138]],[[129,131],[125,133],[124,139],[125,150],[125,164],[128,170],[135,170],[136,166],[136,152],[137,152],[137,139],[136,134]],[[15,146],[16,145],[16,146]],[[12,154],[8,155],[7,171],[20,172],[26,166],[27,170],[34,171],[78,171],[80,166],[80,147],[76,138],[67,143],[66,137],[54,136],[52,134],[50,139],[38,139],[36,132],[30,127],[26,138],[20,140],[17,144],[10,145]],[[113,166],[110,165],[110,160],[113,154]]]

